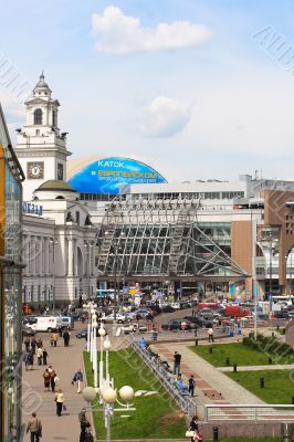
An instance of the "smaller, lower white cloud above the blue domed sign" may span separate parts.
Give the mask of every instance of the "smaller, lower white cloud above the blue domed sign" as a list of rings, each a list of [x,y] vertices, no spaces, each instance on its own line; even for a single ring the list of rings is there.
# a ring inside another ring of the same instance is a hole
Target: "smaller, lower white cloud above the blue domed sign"
[[[140,131],[146,137],[167,138],[182,130],[190,119],[189,110],[177,99],[157,96],[153,99]]]

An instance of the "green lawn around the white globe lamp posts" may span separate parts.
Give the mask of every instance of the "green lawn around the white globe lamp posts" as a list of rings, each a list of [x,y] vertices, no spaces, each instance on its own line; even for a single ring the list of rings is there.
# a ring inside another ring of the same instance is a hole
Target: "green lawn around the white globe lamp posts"
[[[98,356],[99,358],[99,356]],[[87,383],[93,386],[90,356],[84,352]],[[111,351],[109,372],[115,380],[115,388],[130,386],[134,391],[155,390],[158,394],[134,398],[136,411],[116,412],[112,419],[112,439],[183,439],[187,430],[185,415],[171,401],[151,371],[133,349]],[[129,414],[129,418],[120,418]],[[102,412],[94,413],[98,439],[106,439]]]

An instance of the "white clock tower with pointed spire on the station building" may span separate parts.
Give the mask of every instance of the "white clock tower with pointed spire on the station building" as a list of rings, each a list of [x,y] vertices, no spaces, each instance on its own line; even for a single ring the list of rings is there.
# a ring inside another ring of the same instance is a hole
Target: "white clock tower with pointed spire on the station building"
[[[66,181],[66,135],[59,128],[57,99],[51,97],[51,90],[44,74],[25,102],[27,124],[18,131],[15,152],[25,173],[23,200],[31,201],[33,191],[44,181]]]

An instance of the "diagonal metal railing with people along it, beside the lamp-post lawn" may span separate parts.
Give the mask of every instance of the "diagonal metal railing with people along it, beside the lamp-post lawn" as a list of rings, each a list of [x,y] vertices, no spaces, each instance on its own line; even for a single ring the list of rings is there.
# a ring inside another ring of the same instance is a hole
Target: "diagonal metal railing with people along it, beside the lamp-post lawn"
[[[166,389],[168,394],[175,400],[177,406],[189,417],[196,414],[197,404],[190,396],[182,396],[181,392],[175,388],[172,376],[164,368],[158,367],[154,360],[148,356],[147,351],[133,341],[132,347],[140,356],[148,368],[154,372],[156,378],[160,381],[161,386]]]

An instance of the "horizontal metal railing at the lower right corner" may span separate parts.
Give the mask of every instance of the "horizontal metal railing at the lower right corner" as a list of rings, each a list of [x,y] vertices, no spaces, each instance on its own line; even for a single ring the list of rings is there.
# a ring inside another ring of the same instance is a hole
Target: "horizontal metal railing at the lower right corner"
[[[204,422],[212,421],[294,422],[294,404],[206,404]]]

